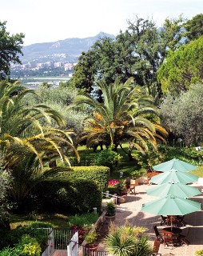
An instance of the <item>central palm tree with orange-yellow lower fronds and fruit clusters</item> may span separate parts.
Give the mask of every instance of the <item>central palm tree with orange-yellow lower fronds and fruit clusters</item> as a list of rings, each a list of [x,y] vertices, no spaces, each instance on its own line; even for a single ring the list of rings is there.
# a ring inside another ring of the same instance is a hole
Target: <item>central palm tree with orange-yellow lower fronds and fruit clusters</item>
[[[159,123],[153,99],[143,94],[141,87],[133,87],[132,81],[129,78],[125,84],[120,84],[116,80],[109,86],[99,82],[102,103],[89,94],[78,95],[76,105],[87,104],[92,113],[78,142],[86,139],[87,146],[103,142],[114,150],[117,146],[122,148],[122,142],[129,142],[129,152],[125,153],[132,158],[130,147],[144,154],[148,142],[156,148],[157,139],[165,141],[167,132]]]

